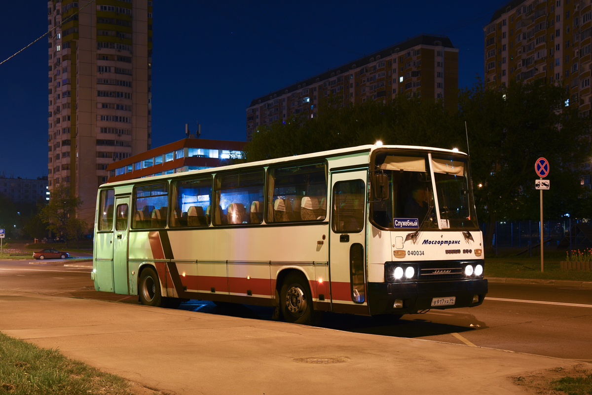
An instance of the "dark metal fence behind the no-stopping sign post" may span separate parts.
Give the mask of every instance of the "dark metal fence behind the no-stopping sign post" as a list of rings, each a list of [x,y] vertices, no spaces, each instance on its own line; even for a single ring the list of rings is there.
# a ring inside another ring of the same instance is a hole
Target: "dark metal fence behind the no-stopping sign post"
[[[590,246],[587,234],[588,220],[562,219],[543,221],[543,248],[565,248],[567,251],[578,246]],[[480,223],[483,239],[496,255],[500,249],[530,249],[540,246],[540,221],[496,221]],[[571,237],[570,237],[571,229]],[[491,250],[490,250],[491,251]],[[532,253],[532,251],[531,251]]]

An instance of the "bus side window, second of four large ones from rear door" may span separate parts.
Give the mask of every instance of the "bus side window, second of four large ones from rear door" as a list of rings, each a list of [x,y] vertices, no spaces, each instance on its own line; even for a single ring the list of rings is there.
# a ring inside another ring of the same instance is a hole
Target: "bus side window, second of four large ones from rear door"
[[[211,177],[174,181],[170,191],[172,194],[171,227],[210,225]]]

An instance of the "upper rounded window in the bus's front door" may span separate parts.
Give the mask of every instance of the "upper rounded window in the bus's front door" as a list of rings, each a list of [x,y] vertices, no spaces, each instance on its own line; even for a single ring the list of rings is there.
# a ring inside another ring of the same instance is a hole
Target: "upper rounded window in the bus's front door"
[[[336,233],[360,232],[364,226],[365,184],[361,179],[333,186],[332,228]]]

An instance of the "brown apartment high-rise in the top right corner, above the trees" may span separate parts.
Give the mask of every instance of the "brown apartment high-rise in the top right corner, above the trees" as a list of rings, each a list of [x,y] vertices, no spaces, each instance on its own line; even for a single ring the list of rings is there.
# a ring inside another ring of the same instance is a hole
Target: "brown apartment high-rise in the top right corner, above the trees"
[[[486,86],[542,79],[564,85],[568,104],[590,110],[590,1],[511,1],[494,12],[484,33]]]

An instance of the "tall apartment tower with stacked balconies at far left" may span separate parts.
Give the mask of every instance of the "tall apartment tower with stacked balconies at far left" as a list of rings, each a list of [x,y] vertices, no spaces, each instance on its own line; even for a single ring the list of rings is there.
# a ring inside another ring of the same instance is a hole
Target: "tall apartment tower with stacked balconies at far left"
[[[49,191],[66,183],[94,223],[107,165],[150,149],[152,1],[47,2]]]

